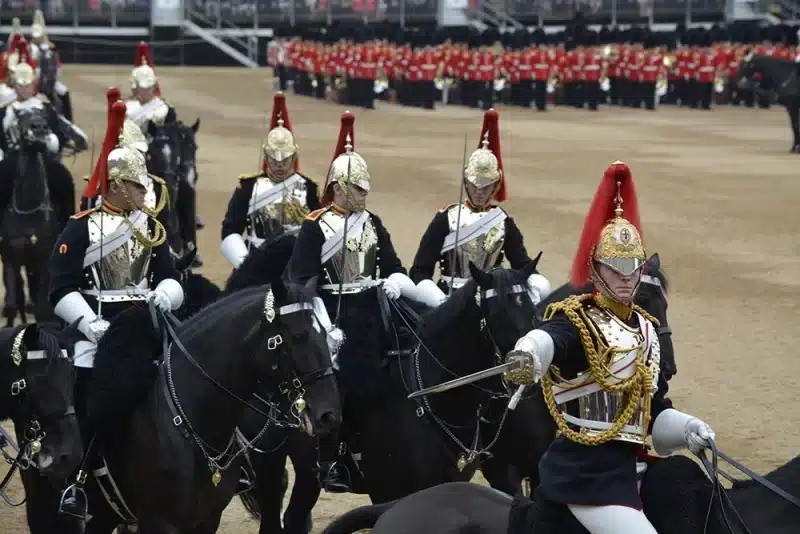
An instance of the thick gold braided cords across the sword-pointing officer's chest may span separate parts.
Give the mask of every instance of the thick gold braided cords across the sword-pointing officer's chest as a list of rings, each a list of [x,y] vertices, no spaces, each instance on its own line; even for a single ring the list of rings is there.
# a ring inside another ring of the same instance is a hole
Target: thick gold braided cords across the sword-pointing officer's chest
[[[553,315],[557,312],[564,312],[569,321],[578,330],[592,379],[594,379],[604,391],[623,394],[624,407],[617,414],[617,417],[611,424],[611,428],[592,435],[576,432],[569,427],[566,419],[564,419],[564,415],[558,409],[555,393],[553,392],[553,386],[556,380],[558,380],[558,383],[567,381],[560,377],[557,367],[551,365],[547,370],[542,377],[542,393],[544,395],[545,404],[547,405],[547,410],[550,412],[550,416],[553,418],[558,430],[564,437],[585,446],[602,445],[603,443],[613,440],[628,421],[633,418],[636,410],[640,406],[644,415],[643,422],[646,432],[650,427],[650,399],[653,397],[653,375],[647,368],[641,354],[636,359],[636,370],[633,376],[616,383],[608,382],[607,378],[612,376],[608,362],[610,356],[614,352],[614,347],[603,349],[602,355],[597,352],[595,339],[592,337],[589,327],[587,326],[590,319],[586,316],[583,305],[585,301],[592,298],[593,295],[591,294],[572,296],[561,302],[550,304],[544,313],[544,319],[549,320],[552,319]],[[634,310],[641,313],[646,319],[654,321],[657,324],[653,316],[642,310],[639,306],[634,305]]]

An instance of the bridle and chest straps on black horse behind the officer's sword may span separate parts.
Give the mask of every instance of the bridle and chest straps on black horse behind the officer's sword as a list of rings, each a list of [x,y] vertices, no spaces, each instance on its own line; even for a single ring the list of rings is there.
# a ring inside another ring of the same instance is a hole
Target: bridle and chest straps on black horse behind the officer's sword
[[[510,290],[505,294],[530,295],[530,292],[523,284],[514,284],[513,286],[511,286]],[[488,327],[486,312],[483,307],[483,302],[486,299],[496,298],[498,296],[499,296],[498,292],[494,288],[489,288],[484,290],[479,287],[478,292],[475,295],[475,299],[478,304],[478,309],[481,312],[481,319],[480,319],[481,332],[483,332],[484,337],[491,344],[495,360],[497,360],[499,363],[502,363],[503,359],[502,351],[500,350],[499,345],[497,344],[494,336],[492,335],[491,329]],[[403,366],[402,365],[399,366],[400,378],[403,381],[406,391],[408,393],[411,393],[411,390],[413,389],[412,384],[414,382],[416,382],[417,390],[425,388],[425,385],[422,381],[422,372],[420,369],[420,352],[421,352],[420,349],[423,349],[428,354],[428,356],[436,363],[436,365],[438,365],[446,373],[450,374],[453,378],[459,378],[459,375],[457,373],[448,369],[447,366],[445,366],[439,359],[436,358],[436,356],[433,354],[433,351],[430,350],[430,348],[425,345],[425,343],[417,334],[415,328],[406,319],[406,315],[410,315],[413,319],[416,319],[418,321],[419,317],[416,316],[416,313],[413,312],[413,310],[411,310],[410,308],[408,308],[408,306],[404,304],[402,301],[390,300],[389,302],[398,311],[398,316],[403,320],[406,327],[411,331],[411,333],[413,334],[414,338],[417,341],[417,346],[412,352],[412,367],[413,367],[412,371],[414,373],[414,376],[409,377],[412,379],[411,384],[407,383],[406,377],[403,376]],[[486,403],[486,405],[483,404],[478,405],[475,418],[475,432],[473,434],[472,441],[469,446],[465,445],[464,442],[462,442],[451,430],[451,428],[459,429],[459,428],[465,428],[466,426],[450,424],[441,419],[439,416],[437,416],[434,413],[433,407],[431,406],[427,396],[422,396],[415,399],[417,403],[417,410],[416,410],[417,417],[422,418],[427,413],[430,420],[435,424],[435,426],[437,426],[450,439],[450,441],[452,441],[456,445],[456,447],[461,451],[458,457],[458,461],[456,463],[456,466],[458,467],[459,471],[462,471],[464,468],[466,468],[467,465],[474,462],[477,458],[481,456],[491,455],[490,450],[494,447],[494,445],[497,443],[497,440],[500,438],[500,433],[503,430],[503,426],[505,425],[505,421],[506,418],[508,417],[508,412],[510,409],[508,403],[505,403],[506,406],[500,418],[500,421],[497,424],[497,431],[495,432],[494,437],[485,447],[482,448],[479,447],[480,435],[481,435],[481,423],[486,422],[486,419],[484,418],[484,407],[488,406],[489,403],[491,403],[494,400],[505,399],[510,397],[511,392],[509,392],[508,389],[505,389],[502,393],[498,393],[492,390],[487,390],[485,388],[482,388],[474,383],[469,384],[469,387],[477,389],[486,394],[488,396],[488,401],[489,401]]]

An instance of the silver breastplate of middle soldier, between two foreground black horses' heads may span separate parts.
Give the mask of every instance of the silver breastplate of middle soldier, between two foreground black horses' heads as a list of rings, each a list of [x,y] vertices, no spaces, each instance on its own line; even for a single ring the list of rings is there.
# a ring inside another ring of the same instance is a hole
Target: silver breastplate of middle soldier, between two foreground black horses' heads
[[[333,210],[328,210],[319,218],[319,225],[325,239],[330,239],[336,232],[344,228],[344,216]],[[349,284],[360,279],[372,276],[378,261],[378,234],[372,217],[360,230],[347,228],[345,247],[334,253],[330,260],[322,266],[331,284]],[[344,262],[342,261],[344,259]]]

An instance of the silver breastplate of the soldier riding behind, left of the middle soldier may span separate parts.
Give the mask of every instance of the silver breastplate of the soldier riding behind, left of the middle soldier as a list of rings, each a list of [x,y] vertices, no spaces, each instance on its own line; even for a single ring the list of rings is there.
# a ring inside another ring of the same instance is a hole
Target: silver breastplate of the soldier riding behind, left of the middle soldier
[[[258,209],[252,209],[259,198],[275,189],[282,189],[280,196]],[[248,203],[249,240],[260,242],[280,234],[296,233],[308,213],[308,188],[305,180],[298,180],[291,188],[286,188],[267,177],[257,178]]]

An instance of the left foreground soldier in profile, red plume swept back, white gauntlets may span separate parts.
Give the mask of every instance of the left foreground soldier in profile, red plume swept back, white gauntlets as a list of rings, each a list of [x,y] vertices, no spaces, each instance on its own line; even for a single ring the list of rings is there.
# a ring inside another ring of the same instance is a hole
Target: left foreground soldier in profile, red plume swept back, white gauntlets
[[[68,324],[80,321],[78,330],[84,336],[75,345],[75,399],[84,439],[92,437],[100,423],[96,414],[87,420],[86,400],[98,341],[109,320],[150,301],[161,310],[176,310],[184,297],[180,274],[165,245],[166,231],[142,209],[147,192],[144,158],[136,149],[114,148],[124,121],[125,104],[116,102],[90,180],[102,195],[102,205],[70,219],[50,265],[55,312]],[[61,511],[85,517],[86,502],[75,486],[65,491]]]

